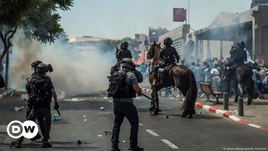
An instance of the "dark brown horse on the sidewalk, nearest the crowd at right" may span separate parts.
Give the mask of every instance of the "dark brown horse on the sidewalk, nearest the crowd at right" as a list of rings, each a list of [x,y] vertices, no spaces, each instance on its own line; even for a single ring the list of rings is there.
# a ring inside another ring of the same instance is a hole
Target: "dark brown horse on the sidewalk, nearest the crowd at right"
[[[232,46],[232,49],[234,49],[235,47]],[[228,82],[228,89],[227,92],[230,92],[230,81],[234,80],[235,81],[235,100],[234,102],[238,101],[238,94],[237,94],[237,86],[238,83],[241,84],[241,86],[243,87],[243,94],[241,95],[241,97],[244,97],[245,92],[248,93],[248,99],[247,99],[247,105],[250,105],[252,102],[252,98],[253,98],[253,80],[252,80],[252,75],[253,75],[253,71],[252,69],[247,66],[247,65],[239,65],[237,66],[230,79],[227,81]]]

